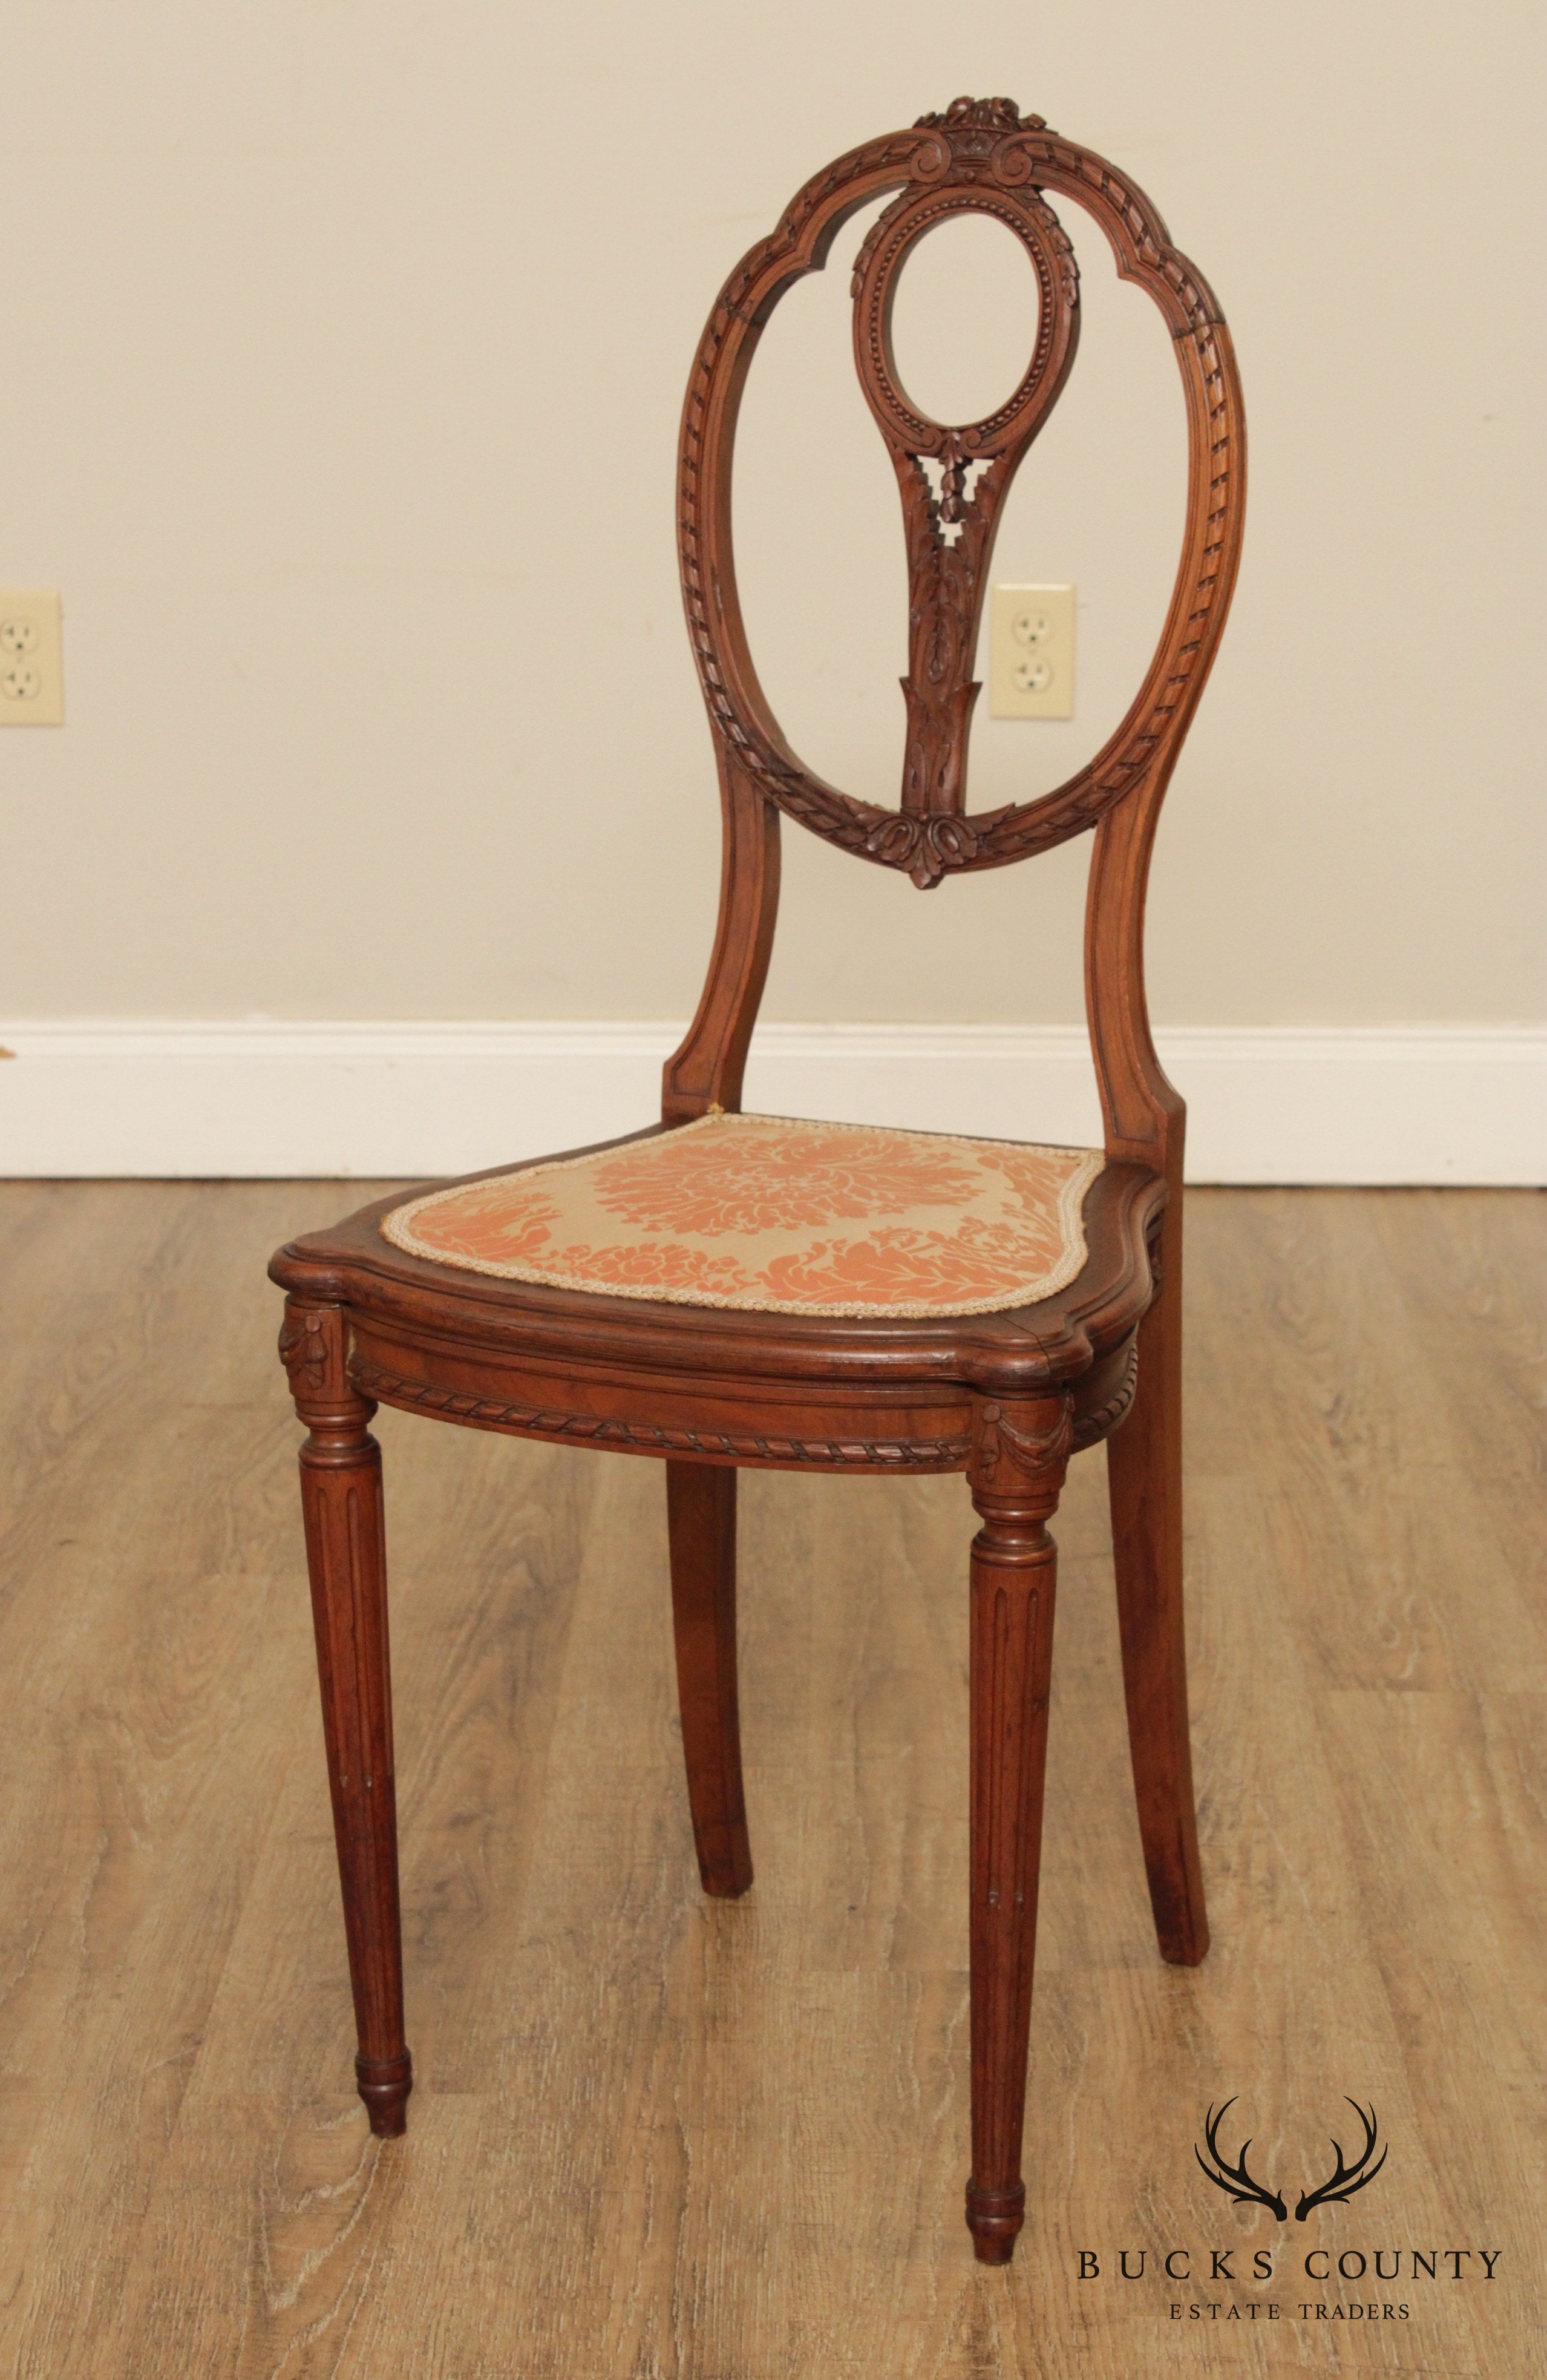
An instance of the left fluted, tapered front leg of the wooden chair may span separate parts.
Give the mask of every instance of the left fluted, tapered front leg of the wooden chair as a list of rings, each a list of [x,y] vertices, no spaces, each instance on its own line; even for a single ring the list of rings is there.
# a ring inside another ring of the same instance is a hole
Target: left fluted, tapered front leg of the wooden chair
[[[359,2040],[355,2082],[371,2132],[393,2137],[407,2123],[414,2068],[402,2040],[381,1449],[367,1428],[376,1407],[350,1388],[338,1307],[286,1299],[278,1352],[309,1430],[300,1449],[300,1502]]]

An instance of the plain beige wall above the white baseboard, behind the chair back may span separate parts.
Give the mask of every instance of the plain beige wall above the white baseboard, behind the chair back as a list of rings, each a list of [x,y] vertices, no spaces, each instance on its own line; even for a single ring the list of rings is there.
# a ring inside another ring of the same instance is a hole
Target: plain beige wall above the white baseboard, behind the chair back
[[[833,152],[1007,90],[1150,188],[1247,386],[1157,1014],[1540,1016],[1537,21],[10,5],[0,583],[64,590],[69,726],[0,733],[0,1014],[685,1014],[716,883],[671,552],[702,317]],[[1166,338],[1066,217],[1085,343],[997,576],[1078,581],[1081,716],[985,721],[978,807],[1095,747],[1171,569]],[[764,343],[740,536],[797,747],[890,800],[902,540],[847,359],[857,236]],[[1009,383],[1021,293],[950,262],[912,267],[904,362],[947,388],[983,293]],[[785,850],[766,1014],[1078,1014],[1085,843],[931,900]]]

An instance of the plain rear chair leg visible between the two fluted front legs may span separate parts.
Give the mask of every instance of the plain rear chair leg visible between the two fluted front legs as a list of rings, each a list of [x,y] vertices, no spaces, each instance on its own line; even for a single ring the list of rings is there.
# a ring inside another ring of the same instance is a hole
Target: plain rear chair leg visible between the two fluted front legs
[[[735,1899],[752,1883],[735,1699],[735,1471],[669,1461],[666,1530],[697,1873],[704,1892]]]

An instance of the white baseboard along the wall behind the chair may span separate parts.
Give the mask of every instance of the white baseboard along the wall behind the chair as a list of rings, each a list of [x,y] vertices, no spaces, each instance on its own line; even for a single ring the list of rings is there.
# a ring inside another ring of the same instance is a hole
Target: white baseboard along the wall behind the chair
[[[5,1176],[421,1178],[647,1123],[669,1023],[0,1023]],[[1200,1183],[1547,1183],[1547,1026],[1157,1035]],[[1100,1142],[1081,1026],[757,1033],[747,1107]]]

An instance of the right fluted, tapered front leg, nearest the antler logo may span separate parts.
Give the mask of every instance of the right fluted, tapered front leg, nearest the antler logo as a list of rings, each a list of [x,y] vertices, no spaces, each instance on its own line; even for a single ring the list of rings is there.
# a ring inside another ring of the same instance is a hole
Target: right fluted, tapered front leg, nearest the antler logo
[[[1021,2128],[1038,1944],[1057,1511],[1073,1426],[1064,1397],[978,1402],[971,1495],[971,2061],[966,2228],[1009,2263],[1026,2221]]]

